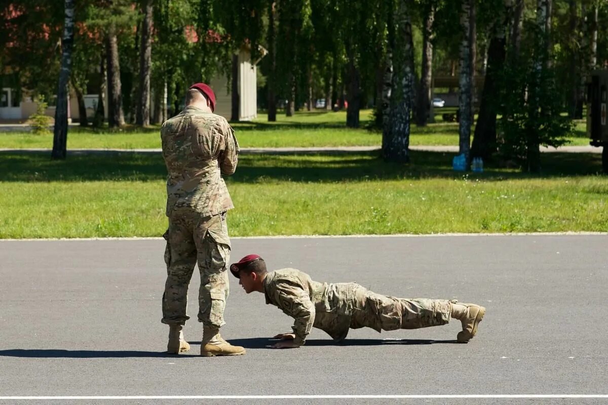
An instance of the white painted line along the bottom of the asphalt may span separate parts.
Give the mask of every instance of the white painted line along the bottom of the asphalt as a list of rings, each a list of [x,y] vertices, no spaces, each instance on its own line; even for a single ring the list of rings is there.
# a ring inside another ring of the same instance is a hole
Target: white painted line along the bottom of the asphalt
[[[2,400],[332,400],[332,399],[586,399],[608,398],[607,394],[471,394],[471,395],[85,395],[85,396],[0,396]]]

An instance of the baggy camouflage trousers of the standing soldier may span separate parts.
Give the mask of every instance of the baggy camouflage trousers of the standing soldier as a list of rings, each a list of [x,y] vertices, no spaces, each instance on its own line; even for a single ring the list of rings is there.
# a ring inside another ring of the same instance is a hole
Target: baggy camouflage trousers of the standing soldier
[[[224,322],[224,308],[229,294],[227,263],[230,239],[226,213],[200,217],[196,213],[174,213],[165,233],[167,282],[162,295],[164,324],[181,324],[186,315],[188,284],[196,264],[201,275],[198,291],[198,321],[213,327]]]

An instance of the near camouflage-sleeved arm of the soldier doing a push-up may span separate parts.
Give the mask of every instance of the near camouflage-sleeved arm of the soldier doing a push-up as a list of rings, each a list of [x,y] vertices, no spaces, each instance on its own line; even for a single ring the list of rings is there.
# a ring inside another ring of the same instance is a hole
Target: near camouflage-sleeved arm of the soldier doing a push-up
[[[294,345],[301,346],[306,341],[306,336],[313,329],[314,324],[314,304],[310,300],[308,293],[302,288],[292,285],[283,286],[277,291],[277,301],[287,315],[294,318]]]

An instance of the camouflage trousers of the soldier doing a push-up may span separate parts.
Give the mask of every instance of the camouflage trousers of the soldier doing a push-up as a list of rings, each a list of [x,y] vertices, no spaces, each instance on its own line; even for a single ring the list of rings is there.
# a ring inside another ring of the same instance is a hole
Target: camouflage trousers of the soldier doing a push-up
[[[455,301],[389,297],[356,285],[350,327],[370,327],[380,332],[445,325],[452,314],[451,302]]]

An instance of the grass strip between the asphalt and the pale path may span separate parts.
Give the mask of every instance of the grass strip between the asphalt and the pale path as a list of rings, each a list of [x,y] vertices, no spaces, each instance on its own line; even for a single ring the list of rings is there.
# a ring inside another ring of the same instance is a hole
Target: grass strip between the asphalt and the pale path
[[[598,154],[543,155],[541,175],[451,171],[450,154],[244,155],[228,179],[232,236],[608,231]],[[160,236],[158,154],[0,154],[0,238]]]

